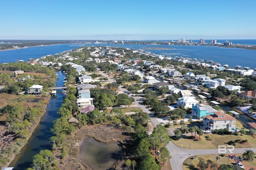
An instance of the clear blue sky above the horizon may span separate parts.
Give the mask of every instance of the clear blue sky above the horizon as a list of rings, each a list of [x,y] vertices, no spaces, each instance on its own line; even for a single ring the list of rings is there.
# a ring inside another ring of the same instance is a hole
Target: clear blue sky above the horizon
[[[256,39],[256,0],[3,0],[0,39]]]

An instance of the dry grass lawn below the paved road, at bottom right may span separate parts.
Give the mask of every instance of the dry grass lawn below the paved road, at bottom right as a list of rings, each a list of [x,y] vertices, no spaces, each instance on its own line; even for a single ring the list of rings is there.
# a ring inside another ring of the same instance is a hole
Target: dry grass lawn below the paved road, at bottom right
[[[197,164],[199,162],[199,158],[204,158],[205,162],[207,160],[211,160],[212,162],[216,162],[216,157],[219,156],[218,154],[207,154],[207,155],[196,155],[193,156],[195,159],[189,159],[187,158],[184,160],[182,168],[183,170],[192,170],[197,167]],[[207,162],[206,162],[207,163]],[[217,160],[218,166],[221,164],[231,164],[233,163],[232,160],[230,160],[227,156],[219,156],[219,160]]]

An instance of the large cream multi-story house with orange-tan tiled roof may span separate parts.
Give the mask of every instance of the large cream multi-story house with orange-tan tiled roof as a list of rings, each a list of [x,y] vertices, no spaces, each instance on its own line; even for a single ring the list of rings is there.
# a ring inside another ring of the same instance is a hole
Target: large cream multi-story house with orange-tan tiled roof
[[[215,129],[225,129],[228,128],[229,131],[232,131],[236,127],[236,118],[232,117],[229,114],[214,112],[212,115],[203,116],[204,125],[200,129],[209,129],[214,131]]]

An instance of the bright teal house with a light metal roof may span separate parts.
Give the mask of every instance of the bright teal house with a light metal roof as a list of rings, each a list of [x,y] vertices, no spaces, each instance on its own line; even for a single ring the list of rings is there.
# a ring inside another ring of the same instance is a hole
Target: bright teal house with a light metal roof
[[[200,118],[202,116],[206,116],[206,115],[213,115],[214,112],[218,112],[217,110],[215,110],[214,108],[212,108],[211,106],[202,106],[200,104],[192,104],[192,113],[189,116],[199,116]]]

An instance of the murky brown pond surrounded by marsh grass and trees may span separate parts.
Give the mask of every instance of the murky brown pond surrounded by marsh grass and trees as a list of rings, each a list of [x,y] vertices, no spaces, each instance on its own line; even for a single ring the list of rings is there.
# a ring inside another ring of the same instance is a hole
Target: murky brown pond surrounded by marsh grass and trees
[[[106,170],[122,156],[123,149],[120,143],[104,144],[84,137],[76,159],[82,160],[93,170]]]

